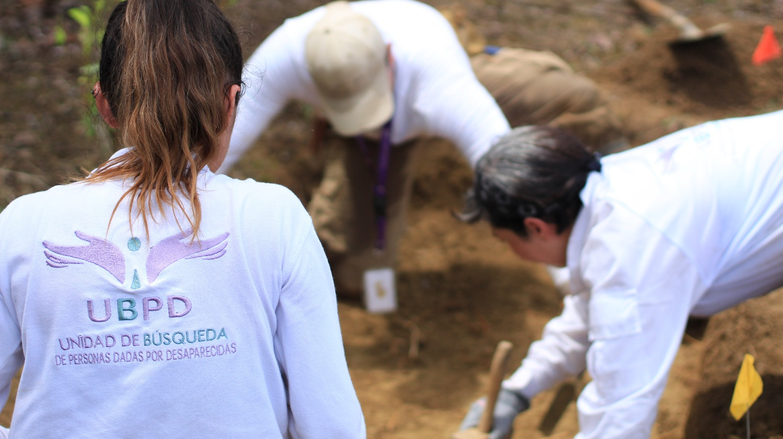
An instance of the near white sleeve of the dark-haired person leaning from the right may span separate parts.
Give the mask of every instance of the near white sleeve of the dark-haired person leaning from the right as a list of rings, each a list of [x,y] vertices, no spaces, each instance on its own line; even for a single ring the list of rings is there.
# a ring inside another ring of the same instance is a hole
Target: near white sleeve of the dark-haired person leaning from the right
[[[590,229],[580,261],[593,380],[576,438],[647,438],[702,280],[664,232],[619,205]]]

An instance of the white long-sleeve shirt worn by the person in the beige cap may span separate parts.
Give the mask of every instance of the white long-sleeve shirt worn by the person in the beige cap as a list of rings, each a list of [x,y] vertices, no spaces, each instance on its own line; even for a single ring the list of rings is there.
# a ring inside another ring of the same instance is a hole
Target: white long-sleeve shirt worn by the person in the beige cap
[[[364,0],[351,7],[369,18],[394,56],[392,144],[422,136],[449,139],[475,164],[510,127],[476,79],[467,54],[436,9],[413,0]],[[247,91],[237,111],[226,172],[295,99],[321,104],[305,62],[305,38],[323,6],[290,18],[256,49],[244,71]]]

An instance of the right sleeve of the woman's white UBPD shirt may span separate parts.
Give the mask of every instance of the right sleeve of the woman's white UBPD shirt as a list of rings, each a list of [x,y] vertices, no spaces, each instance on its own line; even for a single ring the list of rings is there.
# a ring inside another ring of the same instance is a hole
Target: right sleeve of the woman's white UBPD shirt
[[[284,281],[276,316],[276,351],[287,380],[291,436],[366,437],[345,362],[334,282],[312,225]]]

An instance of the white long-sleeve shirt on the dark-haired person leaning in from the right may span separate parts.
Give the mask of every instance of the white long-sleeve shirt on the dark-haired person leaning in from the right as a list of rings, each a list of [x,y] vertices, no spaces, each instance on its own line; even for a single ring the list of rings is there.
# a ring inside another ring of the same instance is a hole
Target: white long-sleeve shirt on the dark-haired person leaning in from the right
[[[783,286],[783,111],[601,160],[568,241],[574,294],[503,383],[532,397],[585,367],[578,439],[646,438],[689,315]]]

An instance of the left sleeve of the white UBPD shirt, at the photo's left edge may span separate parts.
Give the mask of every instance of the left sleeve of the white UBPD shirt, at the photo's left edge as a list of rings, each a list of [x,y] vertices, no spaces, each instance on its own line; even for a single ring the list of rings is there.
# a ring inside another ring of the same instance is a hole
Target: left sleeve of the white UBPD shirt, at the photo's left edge
[[[13,208],[12,203],[0,213],[0,401],[3,401],[3,404],[8,400],[11,380],[24,360],[22,333],[11,298],[11,263],[6,259],[13,254],[8,239],[13,236],[13,232],[9,231],[9,216]],[[3,437],[2,431],[0,437]]]

